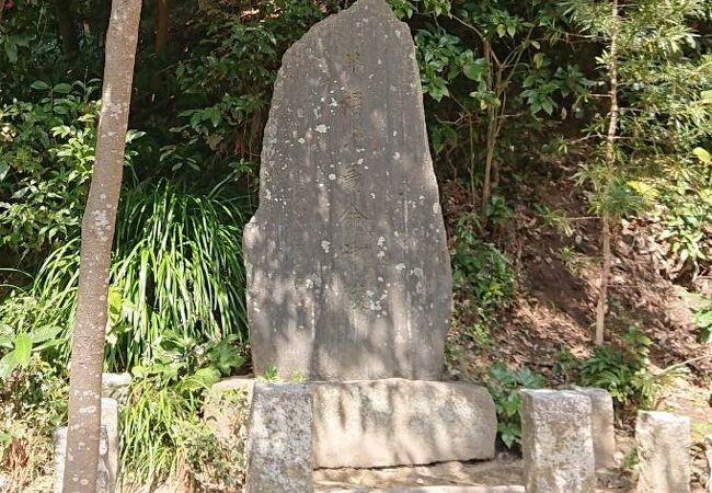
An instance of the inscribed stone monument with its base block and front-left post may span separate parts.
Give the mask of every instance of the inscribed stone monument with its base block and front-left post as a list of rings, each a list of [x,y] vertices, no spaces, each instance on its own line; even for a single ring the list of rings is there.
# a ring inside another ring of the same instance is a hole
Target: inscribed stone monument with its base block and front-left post
[[[494,456],[486,389],[437,381],[449,253],[413,38],[386,0],[285,54],[244,257],[255,375],[287,381],[253,387],[249,492],[308,493],[312,468]]]

